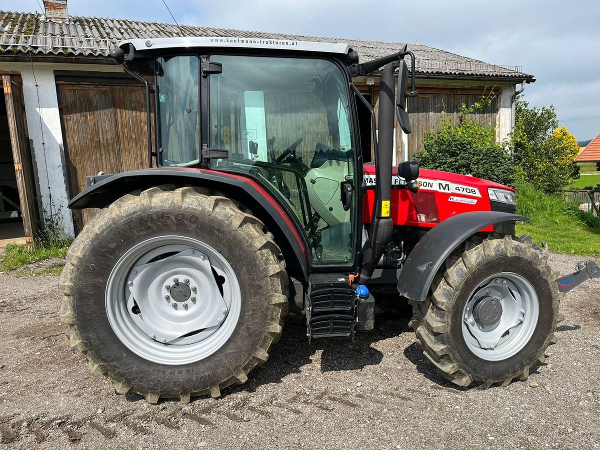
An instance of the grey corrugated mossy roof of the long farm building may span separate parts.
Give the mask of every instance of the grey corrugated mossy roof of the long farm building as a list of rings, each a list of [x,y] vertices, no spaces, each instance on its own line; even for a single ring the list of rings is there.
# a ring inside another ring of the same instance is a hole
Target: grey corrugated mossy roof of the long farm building
[[[37,13],[0,11],[0,53],[34,53],[40,55],[106,56],[119,41],[133,38],[172,36],[239,36],[347,43],[361,61],[398,52],[400,42],[363,41],[260,31],[209,28],[191,25],[177,27],[170,23],[141,22],[127,19],[71,16],[66,22],[46,20]],[[532,79],[521,67],[488,64],[422,44],[409,44],[415,53],[415,68],[422,74],[470,75]]]

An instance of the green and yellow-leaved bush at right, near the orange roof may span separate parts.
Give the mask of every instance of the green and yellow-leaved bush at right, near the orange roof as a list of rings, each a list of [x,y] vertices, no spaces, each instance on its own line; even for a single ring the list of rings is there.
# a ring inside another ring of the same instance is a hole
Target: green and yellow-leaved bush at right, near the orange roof
[[[563,190],[572,178],[579,178],[577,140],[565,127],[557,127],[553,106],[530,108],[526,101],[517,100],[511,136],[514,159],[520,176],[547,194]]]

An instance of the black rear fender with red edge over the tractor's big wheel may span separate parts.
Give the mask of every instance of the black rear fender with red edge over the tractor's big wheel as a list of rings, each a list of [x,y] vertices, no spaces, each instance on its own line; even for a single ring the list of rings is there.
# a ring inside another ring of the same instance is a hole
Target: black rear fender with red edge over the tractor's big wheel
[[[164,184],[206,187],[243,203],[273,234],[286,259],[289,275],[308,280],[308,245],[304,234],[289,217],[287,209],[258,182],[247,176],[175,167],[122,172],[91,185],[73,197],[68,206],[71,209],[106,208],[126,194]]]

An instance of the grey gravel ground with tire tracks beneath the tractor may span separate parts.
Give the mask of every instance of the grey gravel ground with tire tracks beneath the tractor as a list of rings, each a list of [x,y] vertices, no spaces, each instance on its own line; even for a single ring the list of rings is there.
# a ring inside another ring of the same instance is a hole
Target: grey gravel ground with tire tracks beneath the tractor
[[[577,260],[551,255],[562,274]],[[57,283],[0,274],[2,448],[600,447],[600,279],[563,301],[547,364],[506,388],[466,391],[437,376],[408,316],[380,313],[354,343],[311,345],[290,317],[246,385],[154,406],[115,395],[67,349]]]

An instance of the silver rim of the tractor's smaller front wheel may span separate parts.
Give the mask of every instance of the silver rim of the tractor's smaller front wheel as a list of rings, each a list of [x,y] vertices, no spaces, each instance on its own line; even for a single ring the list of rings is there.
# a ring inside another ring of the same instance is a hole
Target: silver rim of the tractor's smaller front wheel
[[[485,309],[482,307],[482,302]],[[497,311],[499,319],[488,311]],[[477,308],[480,308],[479,310]],[[485,313],[479,311],[485,309]],[[539,316],[538,295],[521,275],[500,272],[473,290],[463,310],[463,338],[469,350],[487,361],[502,361],[520,352],[535,331]]]

